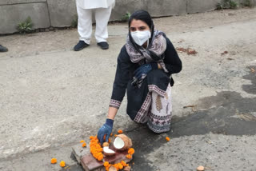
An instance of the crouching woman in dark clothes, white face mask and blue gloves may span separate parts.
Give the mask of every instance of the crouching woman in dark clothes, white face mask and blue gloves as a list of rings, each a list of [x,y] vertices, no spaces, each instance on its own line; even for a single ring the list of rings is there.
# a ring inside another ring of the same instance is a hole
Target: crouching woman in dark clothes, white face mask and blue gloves
[[[118,55],[112,97],[106,123],[98,130],[102,143],[112,132],[114,117],[127,93],[126,112],[133,121],[148,125],[155,133],[170,130],[172,116],[171,74],[182,62],[169,38],[154,29],[150,14],[138,10],[130,16],[126,45]],[[126,92],[127,91],[127,92]]]

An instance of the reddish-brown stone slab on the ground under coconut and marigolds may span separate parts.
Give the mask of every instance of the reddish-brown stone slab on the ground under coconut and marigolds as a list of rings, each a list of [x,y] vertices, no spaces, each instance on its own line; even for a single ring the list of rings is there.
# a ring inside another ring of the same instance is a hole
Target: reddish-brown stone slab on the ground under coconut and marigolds
[[[113,149],[113,147],[110,147],[110,149]],[[114,156],[108,156],[108,157],[104,157],[103,161],[108,161],[110,164],[115,164],[118,163],[120,161],[126,161],[126,163],[130,162],[132,160],[126,158],[126,155],[128,154],[128,150],[126,151],[115,151],[115,155]],[[87,154],[86,156],[81,158],[81,164],[83,169],[85,169],[86,171],[92,171],[92,170],[104,170],[104,162],[103,161],[97,161],[91,153]]]

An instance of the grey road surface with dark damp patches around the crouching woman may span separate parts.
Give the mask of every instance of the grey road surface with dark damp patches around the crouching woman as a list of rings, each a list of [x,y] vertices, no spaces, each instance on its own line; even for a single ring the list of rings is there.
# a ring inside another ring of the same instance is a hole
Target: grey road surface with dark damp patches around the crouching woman
[[[154,18],[179,49],[170,133],[154,134],[126,116],[114,121],[134,141],[133,170],[256,169],[256,8]],[[82,170],[71,154],[106,118],[126,23],[110,24],[110,50],[92,39],[74,52],[77,30],[0,37],[0,170]],[[180,50],[190,48],[197,54]],[[165,141],[169,136],[171,140]]]

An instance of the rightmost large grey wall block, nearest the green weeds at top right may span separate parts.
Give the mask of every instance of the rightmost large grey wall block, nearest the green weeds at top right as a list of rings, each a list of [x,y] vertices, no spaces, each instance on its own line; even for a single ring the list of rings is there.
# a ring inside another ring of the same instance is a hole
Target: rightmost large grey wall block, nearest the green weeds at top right
[[[219,2],[221,2],[221,0],[189,0],[187,1],[186,12],[193,14],[215,10]]]

